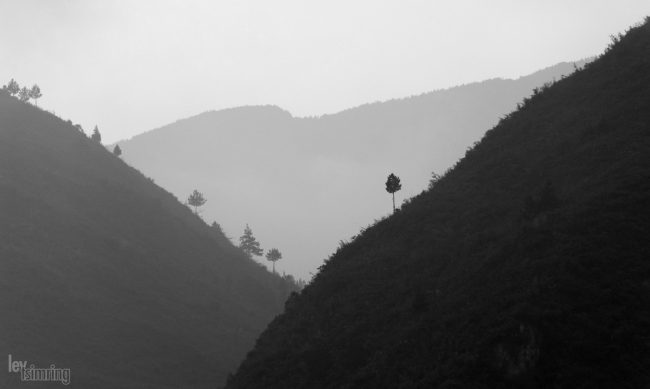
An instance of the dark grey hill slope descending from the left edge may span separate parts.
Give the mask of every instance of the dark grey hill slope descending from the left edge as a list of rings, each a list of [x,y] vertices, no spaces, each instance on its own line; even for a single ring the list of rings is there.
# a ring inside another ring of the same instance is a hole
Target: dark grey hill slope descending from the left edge
[[[0,355],[71,368],[73,388],[214,388],[292,288],[70,124],[1,92],[0,217]]]

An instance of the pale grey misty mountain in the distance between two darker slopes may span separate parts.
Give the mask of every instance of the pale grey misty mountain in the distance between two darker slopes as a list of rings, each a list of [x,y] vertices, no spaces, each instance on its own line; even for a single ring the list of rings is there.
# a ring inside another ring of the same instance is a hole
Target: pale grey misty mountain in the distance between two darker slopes
[[[206,217],[237,238],[250,224],[280,269],[309,277],[368,220],[426,188],[533,88],[570,74],[562,63],[517,80],[493,79],[294,118],[275,106],[212,111],[119,142],[123,158],[179,198],[199,188]]]

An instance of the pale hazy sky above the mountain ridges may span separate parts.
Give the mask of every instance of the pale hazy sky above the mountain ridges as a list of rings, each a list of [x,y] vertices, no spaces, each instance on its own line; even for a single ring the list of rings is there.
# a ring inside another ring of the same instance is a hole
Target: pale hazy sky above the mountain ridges
[[[210,109],[335,112],[600,53],[648,0],[0,0],[0,80],[104,139]]]

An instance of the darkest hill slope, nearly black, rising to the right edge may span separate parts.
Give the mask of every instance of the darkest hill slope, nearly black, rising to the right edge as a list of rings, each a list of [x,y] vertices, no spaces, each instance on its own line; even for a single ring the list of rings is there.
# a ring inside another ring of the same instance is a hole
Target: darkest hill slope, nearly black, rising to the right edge
[[[649,387],[649,214],[650,22],[341,247],[227,387]]]

